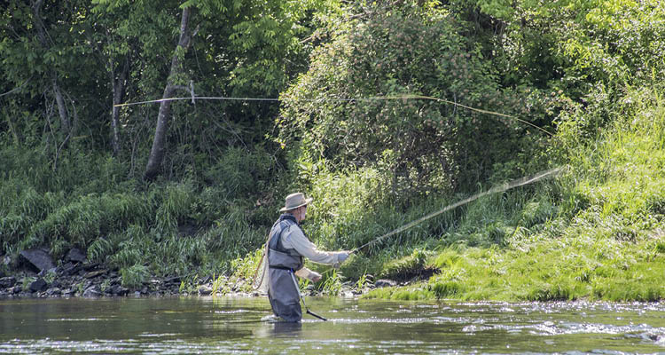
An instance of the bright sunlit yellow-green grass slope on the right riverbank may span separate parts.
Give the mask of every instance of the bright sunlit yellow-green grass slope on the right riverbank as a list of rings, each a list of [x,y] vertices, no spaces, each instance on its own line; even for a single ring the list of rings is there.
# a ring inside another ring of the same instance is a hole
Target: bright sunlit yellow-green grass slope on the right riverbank
[[[622,118],[589,142],[573,144],[561,130],[558,139],[567,156],[563,176],[532,187],[532,193],[474,202],[459,225],[436,238],[428,256],[420,262],[415,256],[400,261],[433,268],[433,277],[368,296],[664,298],[665,105],[660,95],[632,91],[624,98]],[[499,242],[489,246],[474,242],[497,236]]]

